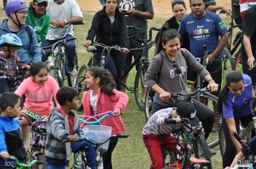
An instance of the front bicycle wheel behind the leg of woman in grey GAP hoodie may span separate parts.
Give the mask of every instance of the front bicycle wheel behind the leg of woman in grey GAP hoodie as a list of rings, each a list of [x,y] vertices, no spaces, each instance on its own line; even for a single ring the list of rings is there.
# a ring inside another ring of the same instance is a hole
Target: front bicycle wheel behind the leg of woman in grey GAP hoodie
[[[219,128],[221,127],[221,115],[217,111],[218,97],[211,93],[192,97],[194,100],[203,103],[214,112],[214,127],[207,138],[209,148],[214,148],[219,145]]]

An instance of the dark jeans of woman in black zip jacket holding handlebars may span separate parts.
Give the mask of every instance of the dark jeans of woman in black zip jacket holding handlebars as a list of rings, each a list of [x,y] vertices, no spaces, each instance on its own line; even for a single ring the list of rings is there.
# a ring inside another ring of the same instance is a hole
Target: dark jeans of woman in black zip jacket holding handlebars
[[[96,52],[97,62],[101,62],[101,51]],[[106,55],[106,54],[105,54]],[[114,52],[109,57],[109,62],[106,62],[105,68],[111,72],[113,78],[116,80],[116,90],[121,90],[122,85],[122,70],[127,59],[127,54],[124,52]]]

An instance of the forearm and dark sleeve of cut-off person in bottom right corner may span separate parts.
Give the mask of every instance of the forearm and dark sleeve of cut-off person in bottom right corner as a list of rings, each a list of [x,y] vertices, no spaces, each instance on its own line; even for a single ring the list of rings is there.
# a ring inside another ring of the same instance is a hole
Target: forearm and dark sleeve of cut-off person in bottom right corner
[[[253,137],[252,140],[248,142],[248,148],[244,148],[244,147],[241,148],[241,151],[234,157],[232,164],[229,167],[226,167],[225,169],[234,168],[234,165],[236,165],[238,159],[248,157],[250,155],[252,155],[252,157],[256,155],[256,136]]]

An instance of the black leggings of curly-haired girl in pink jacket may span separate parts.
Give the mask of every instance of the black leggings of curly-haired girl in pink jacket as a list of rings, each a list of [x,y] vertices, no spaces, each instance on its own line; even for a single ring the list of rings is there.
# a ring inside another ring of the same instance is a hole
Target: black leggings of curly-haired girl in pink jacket
[[[104,169],[112,169],[112,152],[114,148],[116,147],[118,138],[117,137],[111,137],[109,140],[109,148],[106,151],[106,153],[103,154],[103,168]]]

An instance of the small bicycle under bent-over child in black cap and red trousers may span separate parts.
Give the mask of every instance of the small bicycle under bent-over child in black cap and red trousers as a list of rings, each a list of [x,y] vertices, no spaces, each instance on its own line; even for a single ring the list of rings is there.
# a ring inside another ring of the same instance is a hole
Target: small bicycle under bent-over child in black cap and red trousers
[[[188,128],[188,132],[176,130],[173,133],[176,151],[163,150],[165,168],[211,168],[211,157],[205,137],[202,135],[201,122],[193,127],[187,118],[181,118],[180,122]],[[175,123],[175,120],[170,119],[168,123]]]

